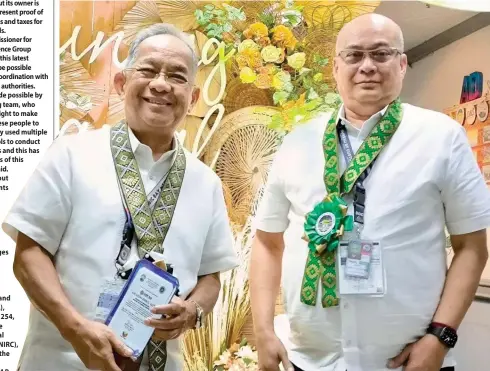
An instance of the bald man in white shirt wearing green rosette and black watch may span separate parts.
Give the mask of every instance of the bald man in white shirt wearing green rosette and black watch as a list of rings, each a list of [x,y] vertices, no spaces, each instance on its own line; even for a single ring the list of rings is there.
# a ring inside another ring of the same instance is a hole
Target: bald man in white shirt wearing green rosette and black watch
[[[343,105],[286,136],[256,217],[259,368],[454,370],[488,257],[488,189],[459,124],[400,103],[407,57],[393,21],[356,18],[336,54]],[[287,328],[274,328],[280,286]]]

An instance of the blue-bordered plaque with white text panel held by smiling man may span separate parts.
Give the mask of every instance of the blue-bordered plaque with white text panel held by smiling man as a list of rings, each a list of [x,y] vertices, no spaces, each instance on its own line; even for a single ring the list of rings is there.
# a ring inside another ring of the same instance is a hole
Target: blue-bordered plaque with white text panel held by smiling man
[[[169,304],[177,292],[179,281],[146,259],[140,260],[124,286],[106,320],[106,325],[138,358],[153,335],[154,328],[144,324],[148,317],[161,318],[150,309]]]

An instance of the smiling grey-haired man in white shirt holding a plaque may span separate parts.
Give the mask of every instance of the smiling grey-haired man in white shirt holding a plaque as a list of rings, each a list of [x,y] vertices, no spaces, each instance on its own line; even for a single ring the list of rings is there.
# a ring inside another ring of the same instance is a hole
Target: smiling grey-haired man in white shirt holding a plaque
[[[57,139],[6,217],[33,309],[21,371],[183,369],[179,337],[203,325],[237,264],[220,179],[175,130],[199,97],[198,58],[170,25],[141,31],[114,86],[125,119]],[[133,362],[104,324],[135,263],[179,280]]]

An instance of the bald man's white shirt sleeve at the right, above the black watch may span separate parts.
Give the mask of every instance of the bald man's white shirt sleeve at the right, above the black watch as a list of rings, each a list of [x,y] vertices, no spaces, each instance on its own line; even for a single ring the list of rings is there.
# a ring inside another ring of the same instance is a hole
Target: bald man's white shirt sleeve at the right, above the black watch
[[[466,234],[490,226],[490,191],[462,127],[453,136],[442,200],[449,234]]]

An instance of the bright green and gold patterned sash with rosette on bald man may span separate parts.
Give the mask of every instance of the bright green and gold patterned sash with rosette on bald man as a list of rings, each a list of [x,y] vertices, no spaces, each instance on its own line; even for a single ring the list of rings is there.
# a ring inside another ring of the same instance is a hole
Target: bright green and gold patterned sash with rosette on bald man
[[[339,144],[337,138],[337,117],[336,110],[325,128],[323,137],[323,151],[325,155],[324,182],[328,197],[315,206],[306,216],[305,239],[308,243],[308,258],[306,260],[305,272],[301,288],[301,302],[306,305],[316,305],[319,282],[322,283],[322,306],[324,308],[337,306],[337,274],[336,274],[336,250],[339,238],[344,231],[352,230],[352,218],[344,217],[337,220],[332,233],[326,238],[315,231],[313,228],[319,222],[321,210],[334,208],[336,203],[345,204],[342,196],[352,191],[357,179],[376,159],[384,146],[390,141],[393,134],[398,129],[403,117],[403,107],[401,101],[396,99],[386,110],[383,117],[373,128],[369,136],[359,147],[351,163],[342,177],[339,176]],[[335,201],[337,200],[337,201]],[[327,248],[318,248],[319,245],[326,244]]]

